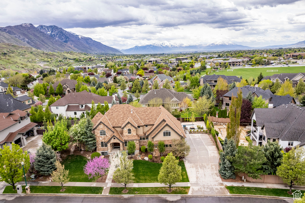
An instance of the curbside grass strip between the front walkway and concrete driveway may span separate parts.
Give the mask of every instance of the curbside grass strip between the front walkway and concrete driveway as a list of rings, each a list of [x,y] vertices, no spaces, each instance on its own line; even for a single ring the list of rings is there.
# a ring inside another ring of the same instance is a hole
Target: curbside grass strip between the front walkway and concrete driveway
[[[190,187],[126,187],[127,193],[123,193],[124,187],[110,187],[109,194],[188,194]],[[137,192],[137,193],[136,193]]]

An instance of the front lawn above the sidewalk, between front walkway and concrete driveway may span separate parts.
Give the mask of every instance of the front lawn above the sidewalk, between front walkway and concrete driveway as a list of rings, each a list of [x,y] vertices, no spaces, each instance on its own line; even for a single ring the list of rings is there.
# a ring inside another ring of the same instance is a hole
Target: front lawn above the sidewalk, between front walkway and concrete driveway
[[[134,160],[134,167],[132,172],[134,173],[134,183],[158,183],[158,175],[162,163],[153,163],[145,160]],[[184,162],[180,161],[181,176],[180,182],[188,182],[188,174],[186,172]]]

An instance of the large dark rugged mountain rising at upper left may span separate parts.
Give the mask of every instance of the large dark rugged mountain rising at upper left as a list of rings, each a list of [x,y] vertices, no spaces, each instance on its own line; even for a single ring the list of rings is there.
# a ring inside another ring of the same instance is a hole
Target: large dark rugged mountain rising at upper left
[[[122,52],[113,47],[106,46],[89,37],[68,32],[55,25],[39,25],[35,27],[31,23],[23,23],[21,25],[1,27],[0,43],[30,46],[43,51],[122,54]]]

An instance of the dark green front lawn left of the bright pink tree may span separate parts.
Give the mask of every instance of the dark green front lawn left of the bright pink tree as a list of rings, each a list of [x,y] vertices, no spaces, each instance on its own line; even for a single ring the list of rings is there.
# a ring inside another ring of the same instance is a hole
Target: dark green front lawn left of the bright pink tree
[[[69,155],[63,161],[65,169],[69,170],[70,182],[95,182],[99,177],[88,178],[84,173],[84,166],[87,163],[87,158],[81,155]]]

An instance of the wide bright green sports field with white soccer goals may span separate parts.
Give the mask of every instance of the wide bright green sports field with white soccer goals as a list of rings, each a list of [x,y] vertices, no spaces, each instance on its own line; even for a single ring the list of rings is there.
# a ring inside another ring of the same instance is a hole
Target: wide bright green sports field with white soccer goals
[[[267,72],[267,70],[278,70],[278,72]],[[294,66],[294,67],[268,66],[264,68],[237,68],[237,69],[233,69],[233,71],[221,70],[219,72],[212,72],[211,74],[236,75],[236,76],[242,76],[242,78],[244,79],[248,79],[249,77],[256,78],[258,75],[260,75],[260,72],[262,72],[264,76],[274,75],[279,73],[299,73],[299,72],[305,72],[305,66]]]

